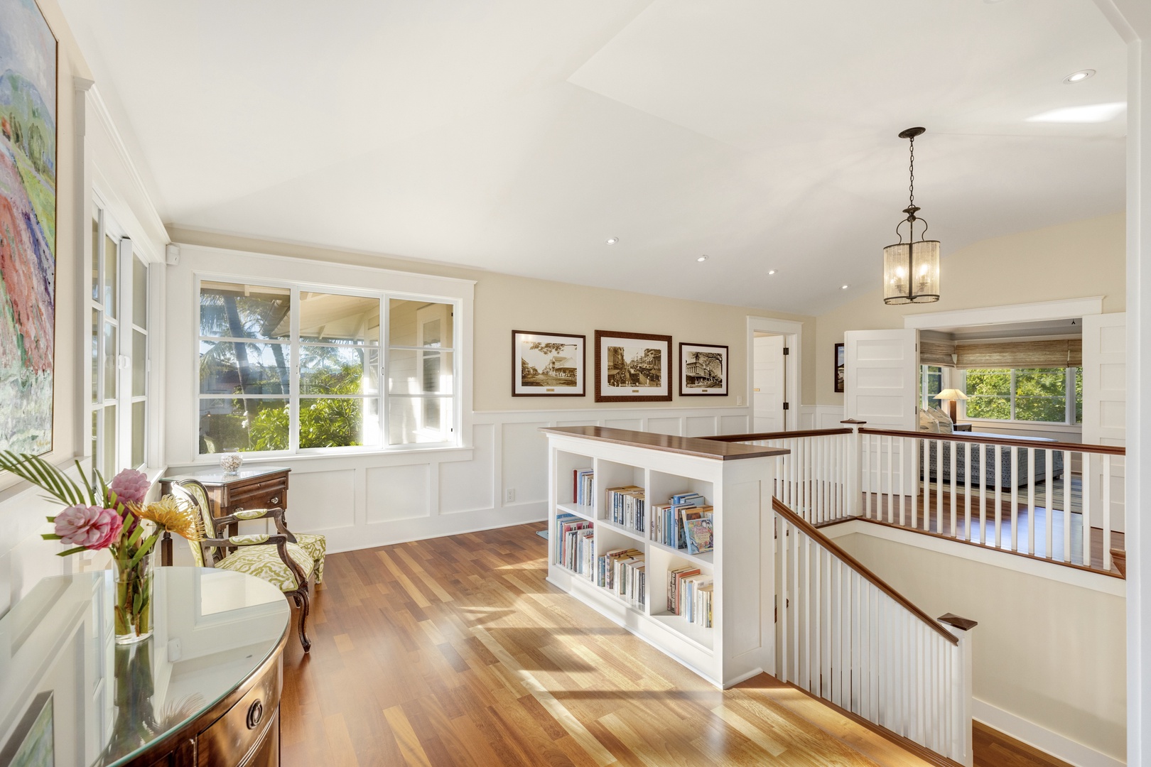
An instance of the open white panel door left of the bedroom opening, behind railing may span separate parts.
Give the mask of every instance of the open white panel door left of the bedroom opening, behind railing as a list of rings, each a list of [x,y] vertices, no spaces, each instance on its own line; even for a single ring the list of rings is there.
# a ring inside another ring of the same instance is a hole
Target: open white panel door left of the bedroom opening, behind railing
[[[848,330],[844,333],[845,417],[867,421],[871,429],[918,430],[918,340],[920,331],[915,329]],[[905,442],[904,460],[897,459],[891,470],[894,492],[908,494],[916,490],[917,446],[917,442]],[[898,455],[898,450],[893,455]],[[886,450],[874,451],[870,466],[864,467],[871,473],[866,486],[872,492],[887,491],[886,460]],[[906,491],[904,477],[908,480]]]

